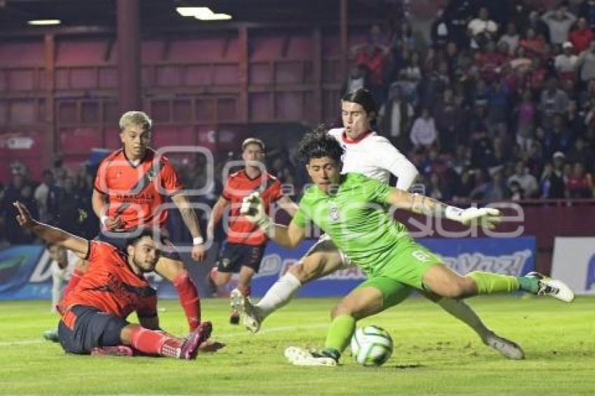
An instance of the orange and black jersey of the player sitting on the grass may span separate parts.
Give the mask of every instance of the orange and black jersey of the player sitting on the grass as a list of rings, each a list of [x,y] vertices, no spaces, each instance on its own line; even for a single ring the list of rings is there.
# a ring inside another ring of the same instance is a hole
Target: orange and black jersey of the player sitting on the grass
[[[134,274],[127,258],[109,243],[90,241],[89,267],[76,287],[58,304],[65,313],[75,305],[127,318],[137,311],[140,318],[157,315],[157,293],[144,276]]]

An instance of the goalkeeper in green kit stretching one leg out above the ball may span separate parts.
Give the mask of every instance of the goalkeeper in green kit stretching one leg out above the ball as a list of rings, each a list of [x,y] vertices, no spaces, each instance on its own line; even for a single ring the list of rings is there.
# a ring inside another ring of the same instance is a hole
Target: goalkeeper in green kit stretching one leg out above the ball
[[[413,213],[432,214],[469,225],[481,222],[489,229],[500,221],[494,208],[461,209],[434,199],[389,188],[361,174],[341,175],[339,143],[324,131],[302,139],[298,155],[314,183],[302,197],[288,227],[276,225],[262,210],[257,193],[244,199],[241,213],[281,246],[295,248],[303,240],[307,221],[330,235],[338,248],[367,274],[332,310],[332,323],[320,353],[290,347],[286,358],[294,365],[336,365],[351,339],[356,321],[384,311],[405,299],[402,283],[441,297],[513,293],[551,295],[572,302],[574,293],[561,281],[542,276],[506,276],[473,271],[461,276],[430,250],[416,243],[407,228],[384,209],[388,204]]]

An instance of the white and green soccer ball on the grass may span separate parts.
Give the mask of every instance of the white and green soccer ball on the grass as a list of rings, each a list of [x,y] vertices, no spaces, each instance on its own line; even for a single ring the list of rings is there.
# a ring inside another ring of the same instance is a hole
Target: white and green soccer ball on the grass
[[[351,355],[360,365],[380,366],[392,354],[393,339],[382,327],[358,327],[351,337]]]

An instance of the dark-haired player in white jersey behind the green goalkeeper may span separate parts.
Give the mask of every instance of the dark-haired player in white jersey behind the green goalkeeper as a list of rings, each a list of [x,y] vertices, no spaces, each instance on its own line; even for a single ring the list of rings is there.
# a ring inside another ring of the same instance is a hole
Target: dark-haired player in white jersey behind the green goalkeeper
[[[342,173],[357,172],[383,183],[388,183],[393,174],[397,177],[396,187],[409,190],[417,176],[417,169],[387,139],[372,132],[377,115],[376,102],[372,94],[365,89],[346,94],[342,98],[341,108],[344,127],[331,129],[328,133],[341,143],[345,151]],[[251,304],[248,298],[238,304],[244,325],[251,332],[258,332],[262,320],[286,305],[304,283],[349,265],[349,257],[346,257],[328,236],[321,236],[302,260],[290,267],[287,273],[269,288],[258,304]],[[433,295],[426,297],[470,326],[484,344],[506,358],[524,358],[524,352],[517,344],[492,332],[463,301]]]

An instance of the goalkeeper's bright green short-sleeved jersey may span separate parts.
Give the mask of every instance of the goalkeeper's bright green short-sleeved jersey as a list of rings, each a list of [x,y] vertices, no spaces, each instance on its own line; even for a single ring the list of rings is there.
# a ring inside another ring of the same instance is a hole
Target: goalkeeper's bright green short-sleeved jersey
[[[345,174],[335,193],[308,188],[292,221],[305,227],[312,220],[367,274],[377,274],[398,254],[399,242],[410,240],[405,225],[386,211],[391,190],[373,178]]]

